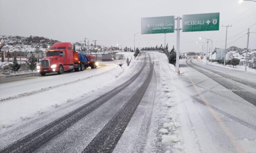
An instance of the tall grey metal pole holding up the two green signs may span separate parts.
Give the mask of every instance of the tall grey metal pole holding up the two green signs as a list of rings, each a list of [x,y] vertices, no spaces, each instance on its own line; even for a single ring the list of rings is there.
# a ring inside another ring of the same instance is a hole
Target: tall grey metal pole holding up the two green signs
[[[177,17],[176,20],[177,20],[177,28],[176,28],[176,31],[177,31],[177,42],[176,42],[176,69],[175,71],[178,73],[178,75],[180,74],[180,19],[181,17]]]

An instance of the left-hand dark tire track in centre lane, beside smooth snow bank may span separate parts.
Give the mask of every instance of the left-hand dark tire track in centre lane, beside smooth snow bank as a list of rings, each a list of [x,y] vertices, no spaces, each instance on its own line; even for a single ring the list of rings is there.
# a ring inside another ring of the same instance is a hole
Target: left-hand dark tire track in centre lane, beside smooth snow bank
[[[129,84],[131,84],[142,72],[146,66],[146,58],[139,72],[137,72],[131,79],[123,83],[122,85],[116,87],[115,89],[103,94],[102,96],[78,107],[77,109],[71,111],[70,113],[54,120],[53,122],[45,125],[44,127],[30,133],[29,135],[17,140],[16,142],[4,147],[0,150],[0,153],[16,153],[16,152],[33,152],[40,148],[43,144],[60,134],[62,131],[66,130],[74,123],[76,123],[81,118],[85,117],[91,111],[98,108],[100,105],[108,101],[110,98],[118,94],[120,91],[125,89]]]

